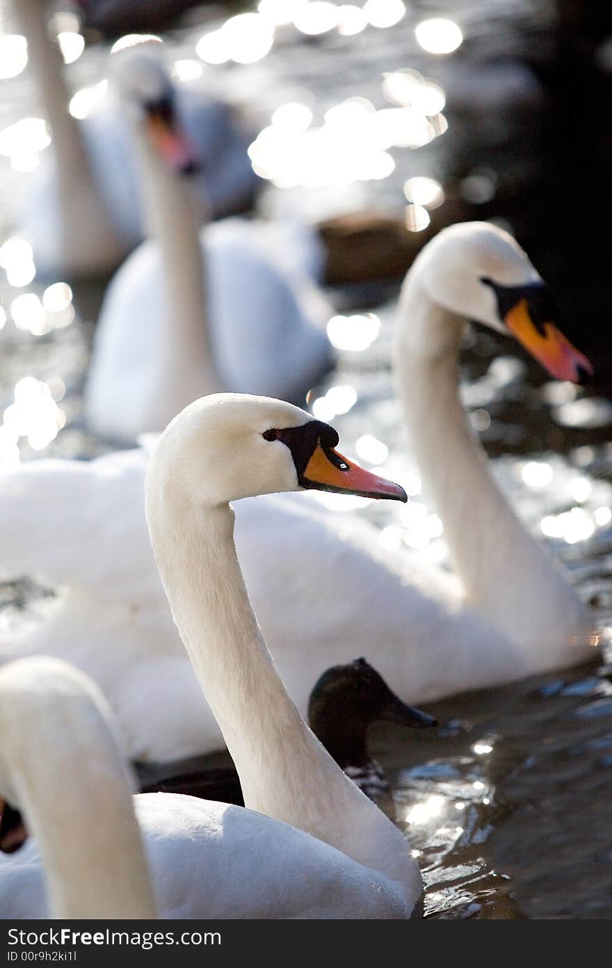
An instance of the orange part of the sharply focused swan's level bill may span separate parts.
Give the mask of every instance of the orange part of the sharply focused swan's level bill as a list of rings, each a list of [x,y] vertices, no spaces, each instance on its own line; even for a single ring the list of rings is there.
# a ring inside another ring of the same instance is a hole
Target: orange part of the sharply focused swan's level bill
[[[320,443],[306,465],[300,484],[306,489],[356,494],[361,498],[408,500],[399,484],[352,464],[337,450],[323,448]]]

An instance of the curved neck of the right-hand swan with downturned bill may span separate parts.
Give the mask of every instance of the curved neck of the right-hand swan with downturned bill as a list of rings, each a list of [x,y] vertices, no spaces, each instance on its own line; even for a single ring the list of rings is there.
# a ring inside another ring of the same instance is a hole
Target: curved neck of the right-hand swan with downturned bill
[[[465,321],[434,303],[409,274],[400,299],[395,368],[425,490],[442,519],[466,600],[513,641],[559,650],[585,627],[585,610],[545,548],[495,484],[458,398]],[[428,351],[433,344],[440,352]]]

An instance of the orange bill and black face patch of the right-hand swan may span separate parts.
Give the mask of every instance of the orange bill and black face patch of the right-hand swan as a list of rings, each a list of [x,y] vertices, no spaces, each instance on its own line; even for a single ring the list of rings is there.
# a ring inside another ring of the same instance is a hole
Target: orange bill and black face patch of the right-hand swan
[[[497,297],[500,318],[551,377],[583,383],[593,376],[591,363],[555,326],[557,311],[543,283],[498,286],[482,279]]]

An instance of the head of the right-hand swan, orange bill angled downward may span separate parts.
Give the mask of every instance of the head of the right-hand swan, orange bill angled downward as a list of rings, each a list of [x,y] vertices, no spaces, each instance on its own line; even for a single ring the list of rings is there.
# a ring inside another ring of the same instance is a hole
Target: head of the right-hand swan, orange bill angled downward
[[[453,315],[514,337],[552,377],[580,382],[593,374],[587,357],[555,325],[557,308],[538,271],[503,229],[487,222],[443,229],[424,247],[410,278]]]

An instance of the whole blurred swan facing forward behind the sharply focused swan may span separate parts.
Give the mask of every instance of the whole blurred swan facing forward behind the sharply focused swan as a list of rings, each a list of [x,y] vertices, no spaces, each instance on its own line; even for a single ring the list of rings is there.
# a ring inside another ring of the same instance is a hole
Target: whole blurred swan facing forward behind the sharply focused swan
[[[314,234],[236,219],[198,236],[203,213],[189,191],[165,70],[137,50],[114,79],[155,242],[131,255],[104,297],[86,389],[90,427],[133,440],[222,387],[304,399],[332,356],[324,327],[333,310],[312,281],[321,257]]]

